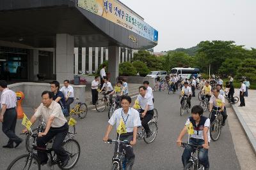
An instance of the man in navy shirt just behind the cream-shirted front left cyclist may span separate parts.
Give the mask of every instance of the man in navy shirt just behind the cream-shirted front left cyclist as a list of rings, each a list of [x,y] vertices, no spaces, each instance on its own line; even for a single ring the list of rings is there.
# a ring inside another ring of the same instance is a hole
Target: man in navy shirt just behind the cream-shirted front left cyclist
[[[60,104],[63,115],[65,117],[68,117],[69,113],[68,113],[65,97],[64,97],[64,94],[59,89],[60,89],[60,83],[55,80],[52,81],[51,92],[54,93],[53,100],[56,101],[58,104]]]

